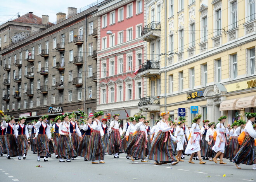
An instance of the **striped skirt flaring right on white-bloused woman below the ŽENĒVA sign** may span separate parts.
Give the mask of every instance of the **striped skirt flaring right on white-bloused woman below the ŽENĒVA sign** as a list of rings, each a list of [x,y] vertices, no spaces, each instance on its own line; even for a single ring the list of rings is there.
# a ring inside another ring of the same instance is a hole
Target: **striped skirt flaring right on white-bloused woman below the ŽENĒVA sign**
[[[69,136],[67,135],[59,136],[58,156],[59,158],[66,158],[66,159],[70,159],[71,157],[77,157],[71,138],[69,138]]]

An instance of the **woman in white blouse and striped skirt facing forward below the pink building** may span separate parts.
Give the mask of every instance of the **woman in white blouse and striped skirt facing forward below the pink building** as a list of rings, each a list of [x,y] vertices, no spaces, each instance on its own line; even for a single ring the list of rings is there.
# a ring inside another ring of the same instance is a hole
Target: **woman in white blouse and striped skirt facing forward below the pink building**
[[[119,158],[118,154],[124,153],[121,142],[122,129],[118,121],[119,116],[119,114],[114,114],[112,116],[114,120],[111,121],[109,126],[109,132],[111,134],[109,139],[109,148],[107,152],[110,155],[114,154],[114,158]]]

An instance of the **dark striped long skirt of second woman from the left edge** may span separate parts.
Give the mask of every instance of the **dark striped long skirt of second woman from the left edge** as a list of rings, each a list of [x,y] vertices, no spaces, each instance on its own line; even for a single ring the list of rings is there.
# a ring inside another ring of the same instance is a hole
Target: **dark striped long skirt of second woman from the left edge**
[[[14,134],[5,134],[5,146],[8,155],[10,155],[11,157],[18,156],[18,146]]]

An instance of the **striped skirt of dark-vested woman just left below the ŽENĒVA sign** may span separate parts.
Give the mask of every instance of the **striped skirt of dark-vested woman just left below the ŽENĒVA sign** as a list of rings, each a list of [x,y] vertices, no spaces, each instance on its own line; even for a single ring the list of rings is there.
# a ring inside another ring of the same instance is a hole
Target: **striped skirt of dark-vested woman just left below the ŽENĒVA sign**
[[[37,156],[50,157],[49,142],[46,134],[38,134],[36,137]]]

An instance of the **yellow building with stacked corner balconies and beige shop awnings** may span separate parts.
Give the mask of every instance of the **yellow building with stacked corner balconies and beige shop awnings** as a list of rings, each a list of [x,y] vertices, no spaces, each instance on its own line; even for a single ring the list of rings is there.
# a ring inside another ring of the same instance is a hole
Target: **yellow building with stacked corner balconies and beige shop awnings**
[[[225,115],[230,124],[256,112],[255,1],[145,2],[149,61],[138,75],[148,79],[139,109],[151,121],[161,111],[177,118],[178,108],[185,108],[189,126],[192,111],[211,122]]]

